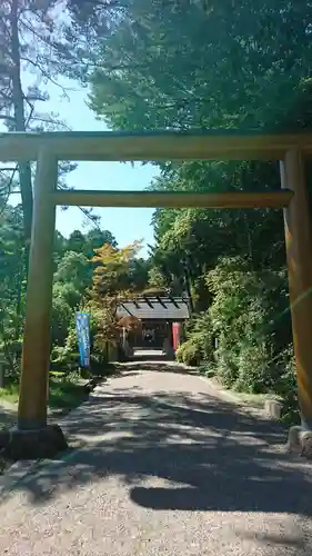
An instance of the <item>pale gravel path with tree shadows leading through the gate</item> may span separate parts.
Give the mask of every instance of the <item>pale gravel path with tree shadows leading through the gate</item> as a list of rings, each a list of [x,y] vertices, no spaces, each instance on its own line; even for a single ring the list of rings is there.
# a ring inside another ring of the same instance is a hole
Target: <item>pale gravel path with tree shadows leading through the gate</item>
[[[4,493],[0,554],[312,553],[310,465],[201,378],[129,370],[64,428],[83,447]]]

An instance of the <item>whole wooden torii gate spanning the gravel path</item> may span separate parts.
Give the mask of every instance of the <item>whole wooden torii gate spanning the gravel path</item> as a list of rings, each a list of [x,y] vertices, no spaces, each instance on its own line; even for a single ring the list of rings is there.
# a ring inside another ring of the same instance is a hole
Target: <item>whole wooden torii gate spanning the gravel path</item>
[[[56,450],[66,445],[61,430],[47,425],[52,249],[58,205],[283,208],[293,342],[302,414],[299,439],[305,438],[306,431],[312,430],[312,226],[304,159],[311,155],[312,135],[309,133],[241,135],[231,130],[2,133],[0,160],[37,161],[18,428],[14,434],[11,433],[11,441],[16,438],[16,444],[27,446],[28,456],[31,453],[33,457],[42,455],[44,444],[47,449],[49,447],[49,453],[53,443]],[[261,159],[281,161],[280,191],[210,193],[57,189],[59,160]],[[38,444],[41,444],[41,448]]]

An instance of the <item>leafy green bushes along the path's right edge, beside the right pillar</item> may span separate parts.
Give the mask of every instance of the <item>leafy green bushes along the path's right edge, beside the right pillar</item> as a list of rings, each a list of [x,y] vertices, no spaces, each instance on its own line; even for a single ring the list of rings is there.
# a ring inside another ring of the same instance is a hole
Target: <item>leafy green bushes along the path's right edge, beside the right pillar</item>
[[[204,282],[210,307],[193,314],[178,360],[234,391],[276,397],[283,421],[299,423],[285,269],[250,270],[223,258]]]

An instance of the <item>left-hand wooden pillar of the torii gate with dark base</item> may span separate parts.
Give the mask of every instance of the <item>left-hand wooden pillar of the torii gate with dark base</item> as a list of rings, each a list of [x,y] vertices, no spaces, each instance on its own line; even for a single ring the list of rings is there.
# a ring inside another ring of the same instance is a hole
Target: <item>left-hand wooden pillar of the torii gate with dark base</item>
[[[57,182],[58,159],[42,149],[33,190],[18,428],[10,448],[17,458],[49,457],[67,448],[61,428],[47,424]]]

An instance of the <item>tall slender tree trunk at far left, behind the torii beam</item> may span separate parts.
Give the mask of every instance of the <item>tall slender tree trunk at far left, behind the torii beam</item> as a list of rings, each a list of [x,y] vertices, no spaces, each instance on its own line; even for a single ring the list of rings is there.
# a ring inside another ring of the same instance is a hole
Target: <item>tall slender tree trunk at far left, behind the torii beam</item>
[[[20,40],[19,40],[19,1],[11,0],[11,54],[12,54],[12,100],[14,109],[16,131],[26,131],[24,118],[24,96],[21,85],[21,60],[20,60]],[[32,220],[32,185],[30,163],[19,165],[19,178],[23,211],[23,230],[27,246],[27,267],[28,252],[31,237]]]

